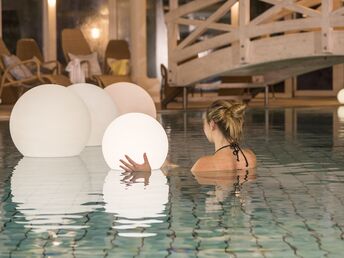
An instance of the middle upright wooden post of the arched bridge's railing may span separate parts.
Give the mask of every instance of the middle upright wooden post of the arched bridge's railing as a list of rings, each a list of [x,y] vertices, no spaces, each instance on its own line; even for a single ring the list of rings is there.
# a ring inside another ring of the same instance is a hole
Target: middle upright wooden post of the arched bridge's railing
[[[239,0],[239,54],[240,63],[249,63],[250,39],[247,37],[247,25],[250,22],[250,0]]]

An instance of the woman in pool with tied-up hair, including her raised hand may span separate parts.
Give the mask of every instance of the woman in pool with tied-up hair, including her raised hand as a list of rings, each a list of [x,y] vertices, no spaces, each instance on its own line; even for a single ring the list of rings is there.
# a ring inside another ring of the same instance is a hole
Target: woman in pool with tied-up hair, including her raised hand
[[[241,149],[239,141],[243,131],[246,105],[218,100],[208,108],[203,121],[203,130],[208,141],[214,144],[213,155],[199,158],[191,168],[193,173],[249,169],[256,166],[256,156],[249,149]],[[137,164],[130,157],[121,160],[127,172],[150,171],[147,155],[144,163]]]

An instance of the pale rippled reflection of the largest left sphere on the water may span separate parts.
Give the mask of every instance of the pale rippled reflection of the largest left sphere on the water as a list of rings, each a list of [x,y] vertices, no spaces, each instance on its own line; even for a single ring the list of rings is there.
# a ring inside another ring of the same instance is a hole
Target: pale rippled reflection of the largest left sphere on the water
[[[104,176],[105,177],[105,176]],[[12,201],[24,219],[16,220],[38,232],[53,229],[78,229],[80,213],[91,212],[100,205],[92,191],[90,173],[79,157],[27,158],[15,167],[11,177]],[[102,193],[102,186],[99,193]],[[99,188],[99,187],[98,187]]]

